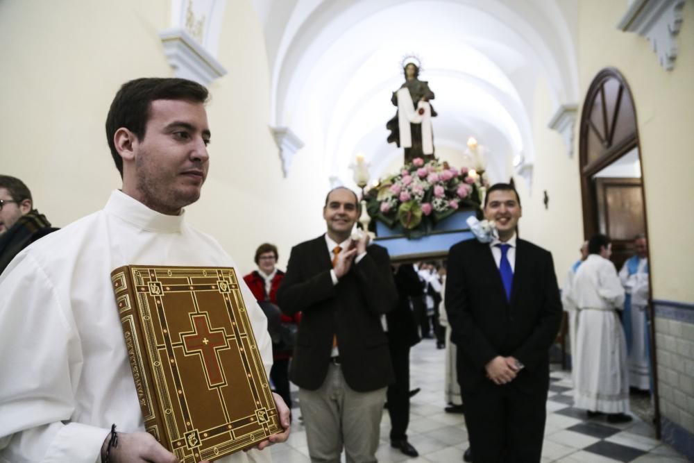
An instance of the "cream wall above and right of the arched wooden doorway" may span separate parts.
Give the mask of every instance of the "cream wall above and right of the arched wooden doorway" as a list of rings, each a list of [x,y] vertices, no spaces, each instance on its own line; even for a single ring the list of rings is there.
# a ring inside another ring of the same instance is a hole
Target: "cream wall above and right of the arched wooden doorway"
[[[619,1],[579,2],[580,94],[584,98],[604,67],[616,67],[626,78],[641,143],[653,298],[692,303],[694,216],[688,203],[694,195],[694,3],[684,4],[672,71],[659,65],[644,37],[618,31],[625,10]]]

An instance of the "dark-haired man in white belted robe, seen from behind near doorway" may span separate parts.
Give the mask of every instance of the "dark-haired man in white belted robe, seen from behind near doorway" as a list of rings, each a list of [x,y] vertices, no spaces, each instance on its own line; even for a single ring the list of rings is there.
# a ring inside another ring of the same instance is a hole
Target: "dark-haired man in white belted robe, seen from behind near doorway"
[[[575,355],[575,407],[589,416],[607,413],[612,423],[631,421],[627,345],[617,314],[624,289],[609,261],[608,237],[595,235],[588,243],[589,256],[578,267],[568,298],[578,309]]]

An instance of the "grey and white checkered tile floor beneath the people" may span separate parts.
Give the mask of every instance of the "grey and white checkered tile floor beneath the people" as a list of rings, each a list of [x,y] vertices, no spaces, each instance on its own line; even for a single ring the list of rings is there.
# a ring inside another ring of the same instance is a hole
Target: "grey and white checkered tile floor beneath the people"
[[[424,339],[412,348],[410,361],[412,388],[419,387],[421,392],[412,398],[408,436],[420,456],[409,458],[391,448],[390,420],[384,412],[378,461],[461,462],[468,436],[462,415],[443,412],[443,350],[438,350],[432,339]],[[572,387],[570,373],[552,372],[543,463],[686,463],[682,455],[655,439],[650,423],[636,416],[625,424],[607,423],[604,418],[586,419],[584,410],[572,406]],[[273,461],[278,463],[310,462],[306,432],[298,421],[301,412],[298,404],[294,407],[289,441],[271,447]]]

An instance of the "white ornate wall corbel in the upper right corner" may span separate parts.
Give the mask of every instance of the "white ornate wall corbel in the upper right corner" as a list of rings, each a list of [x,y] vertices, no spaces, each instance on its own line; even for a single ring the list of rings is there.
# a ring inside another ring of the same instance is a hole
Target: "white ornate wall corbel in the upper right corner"
[[[625,32],[646,37],[660,65],[671,71],[677,58],[677,35],[685,0],[636,0],[617,24]]]

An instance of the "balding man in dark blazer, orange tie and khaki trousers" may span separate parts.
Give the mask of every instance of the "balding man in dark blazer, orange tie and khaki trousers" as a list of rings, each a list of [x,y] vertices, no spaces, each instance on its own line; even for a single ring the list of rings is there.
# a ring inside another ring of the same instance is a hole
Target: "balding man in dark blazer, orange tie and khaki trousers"
[[[375,462],[380,419],[393,367],[382,316],[398,301],[381,246],[368,235],[352,239],[357,195],[328,193],[325,235],[291,249],[278,303],[302,312],[289,378],[299,404],[313,462]]]

